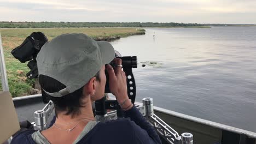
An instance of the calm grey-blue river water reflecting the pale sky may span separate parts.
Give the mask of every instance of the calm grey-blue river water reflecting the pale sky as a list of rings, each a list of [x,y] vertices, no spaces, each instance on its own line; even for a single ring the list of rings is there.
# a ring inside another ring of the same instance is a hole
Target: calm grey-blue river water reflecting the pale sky
[[[256,132],[256,27],[146,28],[112,44],[138,58],[136,101]]]

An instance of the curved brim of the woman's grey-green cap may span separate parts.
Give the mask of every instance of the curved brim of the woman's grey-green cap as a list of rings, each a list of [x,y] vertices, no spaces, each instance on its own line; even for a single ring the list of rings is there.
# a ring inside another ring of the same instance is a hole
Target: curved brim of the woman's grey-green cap
[[[97,44],[100,47],[102,63],[111,62],[115,57],[114,47],[108,41],[97,41]]]

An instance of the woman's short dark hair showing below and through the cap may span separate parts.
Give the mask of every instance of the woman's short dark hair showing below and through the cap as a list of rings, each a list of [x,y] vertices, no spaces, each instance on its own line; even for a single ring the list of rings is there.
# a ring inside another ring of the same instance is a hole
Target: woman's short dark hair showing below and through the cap
[[[95,77],[97,81],[100,81],[99,71]],[[43,89],[49,93],[54,93],[60,91],[63,88],[66,88],[66,86],[63,85],[63,83],[46,75],[39,75],[39,83],[42,87],[42,95],[47,95],[48,98],[53,101],[56,117],[59,112],[63,111],[66,111],[65,115],[71,115],[71,117],[77,116],[81,113],[80,107],[83,107],[84,105],[82,101],[82,98],[84,98],[83,87],[63,97],[52,97],[46,94]]]

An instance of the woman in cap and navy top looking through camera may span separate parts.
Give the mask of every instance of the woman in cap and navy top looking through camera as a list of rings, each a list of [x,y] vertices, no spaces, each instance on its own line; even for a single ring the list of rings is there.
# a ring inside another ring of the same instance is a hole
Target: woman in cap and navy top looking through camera
[[[114,69],[108,64],[112,60]],[[37,65],[42,93],[53,101],[56,120],[46,130],[21,132],[13,143],[161,143],[128,98],[121,59],[114,58],[107,41],[96,42],[85,34],[62,34],[44,44]],[[91,103],[104,96],[105,69],[109,89],[126,118],[96,122]]]

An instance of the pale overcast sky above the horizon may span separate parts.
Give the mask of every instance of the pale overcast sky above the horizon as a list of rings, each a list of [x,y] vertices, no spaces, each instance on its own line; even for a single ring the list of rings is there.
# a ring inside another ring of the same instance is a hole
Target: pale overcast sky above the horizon
[[[256,24],[256,0],[0,0],[0,21]]]

